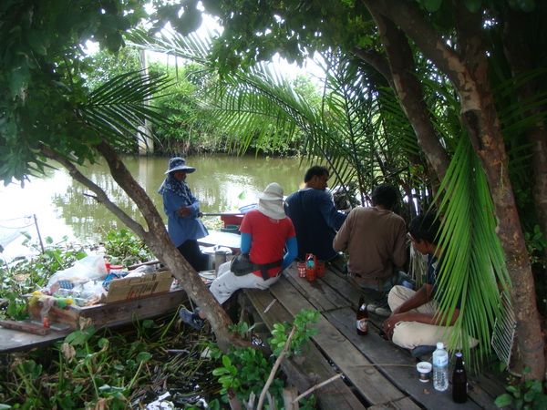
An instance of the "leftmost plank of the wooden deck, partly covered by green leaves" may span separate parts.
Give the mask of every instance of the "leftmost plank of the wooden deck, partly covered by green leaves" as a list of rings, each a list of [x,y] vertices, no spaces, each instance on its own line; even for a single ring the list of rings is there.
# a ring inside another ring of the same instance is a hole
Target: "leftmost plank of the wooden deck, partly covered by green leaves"
[[[245,294],[270,329],[274,328],[274,323],[293,322],[293,315],[288,313],[279,302],[275,302],[267,313],[263,313],[274,300],[270,292],[247,289]],[[282,368],[291,384],[294,384],[300,392],[336,374],[335,369],[326,362],[323,354],[313,344],[306,348],[304,356],[291,356],[288,360],[284,360]],[[342,380],[335,380],[318,389],[314,394],[319,407],[323,409],[365,408]]]

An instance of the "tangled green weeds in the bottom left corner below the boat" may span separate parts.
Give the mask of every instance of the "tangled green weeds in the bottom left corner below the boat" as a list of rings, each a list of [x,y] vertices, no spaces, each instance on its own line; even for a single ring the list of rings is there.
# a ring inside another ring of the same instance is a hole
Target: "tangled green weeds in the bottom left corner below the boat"
[[[180,333],[169,319],[142,323],[148,332],[78,330],[39,352],[9,355],[0,369],[4,405],[126,409],[146,405],[147,396],[160,395],[166,384],[179,391],[185,386],[178,405],[197,404],[204,394],[219,389],[208,375],[201,375],[210,374],[216,362],[201,357],[207,341]],[[181,354],[166,354],[173,345]]]

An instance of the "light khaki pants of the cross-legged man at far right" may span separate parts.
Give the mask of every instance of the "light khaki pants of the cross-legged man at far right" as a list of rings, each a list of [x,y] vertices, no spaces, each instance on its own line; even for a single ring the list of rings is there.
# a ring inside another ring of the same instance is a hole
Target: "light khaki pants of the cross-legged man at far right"
[[[404,286],[394,286],[387,296],[389,307],[394,311],[401,304],[408,301],[414,293],[416,292]],[[437,313],[437,302],[430,301],[411,312],[435,314]],[[414,349],[418,346],[435,346],[438,342],[442,342],[447,346],[452,329],[452,326],[449,326],[447,329],[445,326],[436,326],[433,324],[399,322],[395,325],[392,341],[405,349]],[[468,337],[470,347],[474,347],[479,343],[478,340],[470,336]],[[461,346],[452,346],[452,348],[460,349]]]

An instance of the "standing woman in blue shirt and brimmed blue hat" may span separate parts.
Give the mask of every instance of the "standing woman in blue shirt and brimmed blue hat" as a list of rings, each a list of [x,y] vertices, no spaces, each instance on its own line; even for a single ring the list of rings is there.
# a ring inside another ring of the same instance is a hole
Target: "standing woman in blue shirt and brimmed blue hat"
[[[195,170],[187,166],[183,158],[171,158],[165,172],[167,178],[158,192],[163,195],[163,211],[167,215],[171,241],[191,267],[200,272],[209,269],[209,257],[201,253],[197,240],[207,236],[208,232],[199,219],[200,201],[192,195],[186,183],[186,175]]]

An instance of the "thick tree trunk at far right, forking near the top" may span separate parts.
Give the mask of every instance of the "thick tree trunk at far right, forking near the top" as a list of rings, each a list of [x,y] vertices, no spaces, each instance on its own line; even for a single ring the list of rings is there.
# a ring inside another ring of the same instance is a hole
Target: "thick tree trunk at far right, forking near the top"
[[[484,169],[498,220],[497,233],[511,277],[511,302],[517,320],[517,343],[522,365],[530,366],[527,377],[544,378],[544,354],[540,315],[536,306],[530,258],[511,190],[507,156],[500,122],[488,82],[488,62],[480,33],[480,16],[455,5],[459,15],[459,56],[440,38],[428,22],[401,0],[363,0],[373,15],[384,15],[399,26],[452,81],[459,92],[461,118]]]

